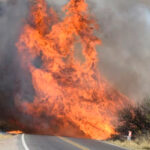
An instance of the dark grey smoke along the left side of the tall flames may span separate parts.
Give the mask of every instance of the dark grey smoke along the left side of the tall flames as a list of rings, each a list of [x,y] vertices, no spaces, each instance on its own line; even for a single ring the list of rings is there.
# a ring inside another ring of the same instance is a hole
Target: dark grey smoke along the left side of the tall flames
[[[21,69],[15,43],[26,14],[26,0],[0,0],[0,120],[16,112],[14,94]]]

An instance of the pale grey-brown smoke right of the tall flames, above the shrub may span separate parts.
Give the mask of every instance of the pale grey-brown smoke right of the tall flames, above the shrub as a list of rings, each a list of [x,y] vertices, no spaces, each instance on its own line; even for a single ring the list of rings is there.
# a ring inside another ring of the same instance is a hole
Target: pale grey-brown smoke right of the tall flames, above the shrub
[[[92,12],[100,24],[100,68],[122,93],[141,100],[150,90],[150,3],[95,0]]]

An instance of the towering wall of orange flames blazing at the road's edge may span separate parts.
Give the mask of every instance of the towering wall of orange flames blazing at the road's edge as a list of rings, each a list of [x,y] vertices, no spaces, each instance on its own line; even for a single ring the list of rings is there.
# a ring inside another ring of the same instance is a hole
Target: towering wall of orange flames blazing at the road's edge
[[[86,1],[70,0],[62,11],[60,19],[44,0],[31,7],[17,48],[35,95],[33,102],[17,97],[16,105],[34,118],[37,133],[109,138],[116,112],[129,100],[98,70],[95,47],[101,40]]]

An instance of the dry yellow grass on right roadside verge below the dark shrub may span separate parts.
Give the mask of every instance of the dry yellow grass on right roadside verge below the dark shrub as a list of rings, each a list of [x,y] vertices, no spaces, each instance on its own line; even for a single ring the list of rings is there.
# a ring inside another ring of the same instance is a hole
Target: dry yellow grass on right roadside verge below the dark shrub
[[[131,140],[131,141],[109,141],[110,143],[114,145],[118,145],[120,147],[127,148],[129,150],[150,150],[150,140],[145,140],[145,139],[136,139],[136,140]]]

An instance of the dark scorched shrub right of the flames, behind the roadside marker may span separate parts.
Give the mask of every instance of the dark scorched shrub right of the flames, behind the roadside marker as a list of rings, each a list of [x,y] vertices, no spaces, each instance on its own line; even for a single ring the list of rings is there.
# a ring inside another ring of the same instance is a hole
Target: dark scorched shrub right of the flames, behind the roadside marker
[[[116,131],[120,135],[127,135],[128,131],[133,131],[133,136],[147,134],[150,131],[150,98],[119,111],[118,119]]]

